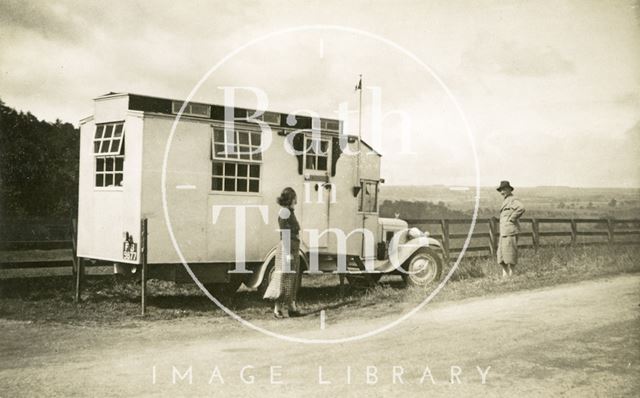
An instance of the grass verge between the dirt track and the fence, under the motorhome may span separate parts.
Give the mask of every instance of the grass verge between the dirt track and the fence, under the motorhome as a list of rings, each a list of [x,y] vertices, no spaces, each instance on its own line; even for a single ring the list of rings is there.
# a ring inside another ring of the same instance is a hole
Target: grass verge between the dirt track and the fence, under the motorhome
[[[495,295],[561,283],[640,271],[640,246],[545,248],[538,253],[523,251],[513,277],[501,278],[493,259],[463,259],[434,302]],[[451,271],[450,266],[443,271]],[[125,326],[139,321],[226,315],[195,285],[177,285],[151,280],[149,312],[140,316],[140,286],[135,281],[118,281],[112,276],[90,277],[83,300],[72,301],[73,281],[69,277],[3,280],[0,287],[0,317],[29,322]],[[337,318],[381,316],[413,308],[433,291],[406,289],[397,276],[385,276],[366,290],[347,288],[340,295],[335,275],[306,277],[300,303],[309,314],[331,309]],[[270,303],[257,292],[241,289],[225,304],[245,319],[268,318]]]

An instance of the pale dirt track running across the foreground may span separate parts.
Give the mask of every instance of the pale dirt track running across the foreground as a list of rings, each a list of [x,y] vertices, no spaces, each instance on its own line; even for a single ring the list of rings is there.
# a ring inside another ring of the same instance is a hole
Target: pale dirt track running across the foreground
[[[332,345],[280,341],[229,318],[120,328],[0,321],[0,396],[638,396],[639,304],[640,276],[627,275],[428,306],[386,333]],[[317,315],[261,326],[335,338],[393,319],[336,323],[329,311],[324,330]],[[192,384],[174,385],[173,366],[183,375],[191,366]],[[284,384],[271,384],[270,366],[281,366],[273,373]],[[477,366],[491,367],[486,384]],[[331,384],[320,384],[319,367]],[[452,367],[460,384],[450,383]]]

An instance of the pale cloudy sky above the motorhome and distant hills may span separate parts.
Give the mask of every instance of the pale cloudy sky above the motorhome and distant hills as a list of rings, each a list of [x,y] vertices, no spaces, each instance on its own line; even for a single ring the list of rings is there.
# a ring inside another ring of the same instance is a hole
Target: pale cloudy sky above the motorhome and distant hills
[[[198,101],[342,103],[351,134],[362,74],[388,184],[640,187],[638,2],[0,0],[0,99],[39,118],[186,98],[208,72]]]

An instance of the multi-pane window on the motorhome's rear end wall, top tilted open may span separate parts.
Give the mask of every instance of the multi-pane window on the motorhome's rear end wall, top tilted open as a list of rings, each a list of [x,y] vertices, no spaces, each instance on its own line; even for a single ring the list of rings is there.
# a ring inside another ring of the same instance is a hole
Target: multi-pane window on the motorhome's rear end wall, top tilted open
[[[95,186],[121,187],[124,176],[124,122],[97,125],[93,152]]]

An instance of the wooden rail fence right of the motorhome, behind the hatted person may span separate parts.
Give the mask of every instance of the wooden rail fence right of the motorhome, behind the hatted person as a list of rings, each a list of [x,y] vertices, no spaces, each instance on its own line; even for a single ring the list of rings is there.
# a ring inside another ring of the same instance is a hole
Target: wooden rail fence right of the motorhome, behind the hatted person
[[[429,236],[442,242],[444,256],[449,260],[453,254],[460,253],[464,240],[469,235],[471,220],[469,219],[433,219],[421,218],[406,220],[410,226],[418,226],[429,231]],[[639,244],[640,241],[621,237],[640,236],[640,219],[612,219],[612,218],[521,218],[519,220],[522,232],[519,234],[518,247],[538,250],[545,246],[558,245],[613,245]],[[589,225],[591,228],[579,228],[579,225]],[[436,226],[439,233],[431,233],[429,227]],[[496,217],[478,218],[471,235],[470,245],[466,252],[484,252],[485,255],[495,255],[498,248],[499,220]],[[563,230],[544,228],[547,226],[564,225]],[[426,227],[426,228],[425,228]],[[457,227],[458,231],[452,231]],[[484,227],[484,228],[483,228]],[[579,237],[596,237],[596,240],[582,241]],[[530,243],[527,243],[530,238]],[[545,242],[543,238],[565,238],[567,242],[555,240]],[[459,241],[459,245],[452,241]],[[478,245],[479,241],[484,244]]]

